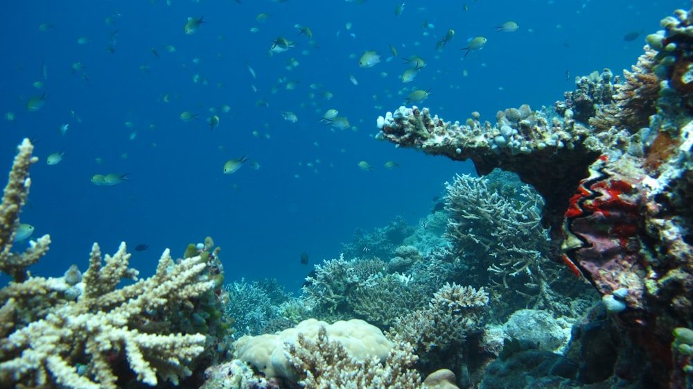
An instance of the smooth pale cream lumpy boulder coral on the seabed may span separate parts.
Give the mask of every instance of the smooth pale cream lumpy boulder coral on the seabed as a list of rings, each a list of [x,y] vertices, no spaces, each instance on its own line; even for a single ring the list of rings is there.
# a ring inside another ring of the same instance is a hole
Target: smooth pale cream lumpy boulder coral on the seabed
[[[296,382],[299,377],[286,358],[284,344],[295,344],[299,334],[315,342],[320,327],[325,327],[331,340],[340,342],[351,356],[361,361],[367,356],[377,356],[384,361],[394,346],[385,338],[383,331],[363,320],[339,320],[329,325],[327,322],[308,319],[277,334],[239,338],[234,343],[236,358],[254,365],[267,377],[283,377]]]

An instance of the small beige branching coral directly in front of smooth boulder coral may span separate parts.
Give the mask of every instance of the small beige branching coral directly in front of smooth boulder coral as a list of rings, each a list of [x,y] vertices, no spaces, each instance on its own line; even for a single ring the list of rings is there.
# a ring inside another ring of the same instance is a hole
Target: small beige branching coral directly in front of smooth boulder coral
[[[421,376],[412,365],[416,355],[405,342],[395,347],[385,361],[376,356],[359,360],[342,343],[331,340],[320,327],[317,341],[299,334],[295,343],[286,343],[285,355],[297,372],[304,388],[421,388]]]

